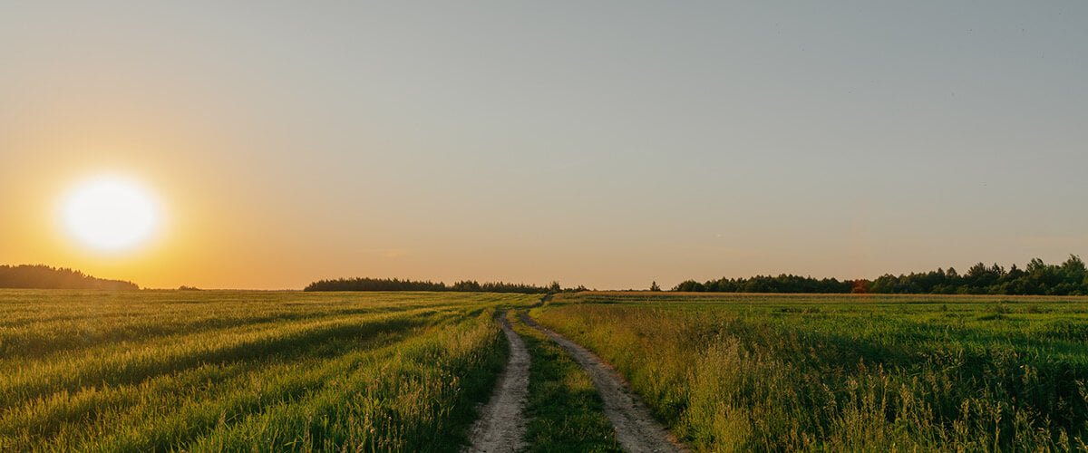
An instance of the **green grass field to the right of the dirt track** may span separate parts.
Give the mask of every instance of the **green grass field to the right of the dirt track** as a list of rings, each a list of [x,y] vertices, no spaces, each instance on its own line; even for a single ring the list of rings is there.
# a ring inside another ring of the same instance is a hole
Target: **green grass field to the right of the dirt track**
[[[614,293],[533,315],[697,450],[1088,449],[1084,298]]]

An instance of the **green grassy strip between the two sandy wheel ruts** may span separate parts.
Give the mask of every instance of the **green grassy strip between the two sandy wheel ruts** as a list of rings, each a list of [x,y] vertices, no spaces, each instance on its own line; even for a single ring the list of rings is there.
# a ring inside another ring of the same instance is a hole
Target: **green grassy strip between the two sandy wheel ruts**
[[[512,311],[510,325],[532,356],[526,441],[531,452],[622,452],[593,381],[559,344]]]

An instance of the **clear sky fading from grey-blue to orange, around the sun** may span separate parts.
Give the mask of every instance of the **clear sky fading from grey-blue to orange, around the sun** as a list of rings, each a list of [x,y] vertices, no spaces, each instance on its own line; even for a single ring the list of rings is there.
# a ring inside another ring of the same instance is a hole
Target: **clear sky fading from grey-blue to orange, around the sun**
[[[3,2],[0,263],[590,288],[1088,254],[1088,3]],[[103,253],[58,205],[161,211]]]

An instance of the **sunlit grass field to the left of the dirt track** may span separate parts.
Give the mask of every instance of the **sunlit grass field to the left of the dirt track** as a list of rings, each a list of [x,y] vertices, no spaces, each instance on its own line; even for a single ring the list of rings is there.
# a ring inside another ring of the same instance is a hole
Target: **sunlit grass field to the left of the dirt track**
[[[85,313],[95,303],[126,313],[103,319],[140,328],[200,315],[189,306],[252,323],[161,329],[35,360],[0,356],[11,372],[0,376],[4,451],[457,450],[505,363],[495,309],[536,299],[254,292],[250,303],[238,292],[28,293],[0,292],[0,306],[24,318],[37,313],[46,325],[64,304],[92,323]],[[124,304],[133,306],[116,306]],[[308,304],[319,314],[307,313]],[[260,313],[276,310],[297,316]]]

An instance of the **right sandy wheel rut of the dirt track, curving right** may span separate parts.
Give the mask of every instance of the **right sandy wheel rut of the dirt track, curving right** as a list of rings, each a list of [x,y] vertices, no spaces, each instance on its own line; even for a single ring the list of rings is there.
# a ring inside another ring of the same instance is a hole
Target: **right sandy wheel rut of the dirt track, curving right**
[[[605,414],[616,427],[616,440],[623,450],[632,453],[689,451],[654,419],[642,399],[630,390],[611,365],[578,343],[541,326],[528,314],[522,314],[521,319],[558,342],[590,375],[605,402]]]

